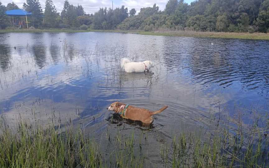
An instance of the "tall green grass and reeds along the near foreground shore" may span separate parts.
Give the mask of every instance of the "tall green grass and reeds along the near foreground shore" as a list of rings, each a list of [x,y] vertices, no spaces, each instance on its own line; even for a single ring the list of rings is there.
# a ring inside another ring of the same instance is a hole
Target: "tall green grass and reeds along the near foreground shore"
[[[101,144],[85,130],[62,130],[59,126],[38,126],[26,121],[16,131],[2,121],[0,167],[144,167],[151,148],[142,149],[134,133],[124,135],[120,127]],[[70,124],[72,125],[72,124]],[[163,167],[268,167],[268,138],[255,126],[239,127],[234,133],[216,131],[207,140],[191,132],[174,135],[172,144],[160,142],[159,162]],[[145,134],[145,132],[144,132]],[[113,148],[107,153],[107,144]],[[104,148],[102,148],[104,147]],[[140,147],[140,150],[135,150]],[[143,147],[144,148],[144,147]]]

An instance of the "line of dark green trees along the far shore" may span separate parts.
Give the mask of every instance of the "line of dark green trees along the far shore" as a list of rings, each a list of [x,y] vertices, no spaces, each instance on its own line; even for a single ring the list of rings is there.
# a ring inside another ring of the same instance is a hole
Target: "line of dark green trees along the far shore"
[[[2,29],[10,26],[4,11],[17,8],[14,2],[7,7],[0,2]],[[163,11],[154,4],[141,8],[137,15],[135,9],[128,12],[124,6],[100,8],[90,15],[81,5],[74,6],[68,0],[61,12],[55,9],[52,0],[46,0],[44,12],[39,0],[26,0],[22,8],[33,13],[31,25],[41,28],[269,32],[269,0],[196,0],[191,4],[169,0]],[[44,22],[38,17],[42,15]]]

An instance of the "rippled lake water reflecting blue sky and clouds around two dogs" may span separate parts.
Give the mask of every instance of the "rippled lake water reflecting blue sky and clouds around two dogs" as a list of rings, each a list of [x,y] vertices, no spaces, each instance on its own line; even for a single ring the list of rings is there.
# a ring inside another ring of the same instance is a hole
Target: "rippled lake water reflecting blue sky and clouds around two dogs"
[[[40,125],[72,123],[99,140],[117,130],[137,136],[146,131],[152,138],[143,145],[153,149],[147,164],[154,167],[162,163],[158,142],[171,142],[182,130],[206,135],[220,127],[216,118],[247,125],[255,115],[267,116],[268,55],[269,41],[262,40],[0,33],[0,114],[9,125],[18,116]],[[123,58],[151,60],[155,67],[151,73],[125,73]],[[169,107],[144,128],[108,112],[115,101],[150,110]]]

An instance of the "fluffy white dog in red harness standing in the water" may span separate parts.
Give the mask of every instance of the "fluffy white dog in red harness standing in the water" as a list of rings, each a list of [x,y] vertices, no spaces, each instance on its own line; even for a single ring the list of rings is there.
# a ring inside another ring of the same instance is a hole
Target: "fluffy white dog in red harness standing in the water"
[[[144,62],[130,62],[128,59],[123,59],[121,63],[122,69],[125,72],[149,72],[149,69],[154,67],[151,61],[144,61]]]

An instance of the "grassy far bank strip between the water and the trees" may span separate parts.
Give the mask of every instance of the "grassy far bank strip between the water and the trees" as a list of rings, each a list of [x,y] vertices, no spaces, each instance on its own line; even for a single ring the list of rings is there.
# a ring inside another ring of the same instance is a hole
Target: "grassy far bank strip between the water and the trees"
[[[143,35],[156,36],[180,36],[180,37],[201,37],[201,38],[237,38],[253,40],[269,40],[269,33],[225,33],[225,32],[194,32],[194,31],[139,31],[139,30],[66,30],[66,29],[18,29],[0,30],[0,33],[78,33],[78,32],[118,32],[138,33]]]

